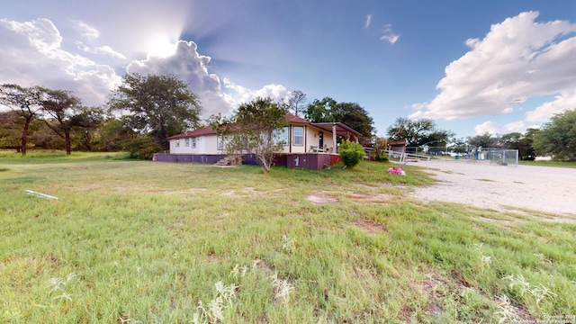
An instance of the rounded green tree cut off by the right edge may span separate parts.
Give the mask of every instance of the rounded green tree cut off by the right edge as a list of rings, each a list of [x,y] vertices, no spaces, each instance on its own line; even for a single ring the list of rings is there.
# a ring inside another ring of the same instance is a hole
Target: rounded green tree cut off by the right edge
[[[541,156],[555,160],[576,159],[576,109],[557,113],[534,136],[534,148]]]

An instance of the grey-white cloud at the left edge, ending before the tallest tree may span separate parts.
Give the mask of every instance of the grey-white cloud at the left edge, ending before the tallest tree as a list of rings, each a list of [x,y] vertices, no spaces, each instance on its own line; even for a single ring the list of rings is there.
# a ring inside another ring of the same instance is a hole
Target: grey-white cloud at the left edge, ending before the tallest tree
[[[70,90],[88,105],[103,98],[121,80],[111,67],[61,48],[62,36],[49,19],[0,20],[0,83],[43,85]]]

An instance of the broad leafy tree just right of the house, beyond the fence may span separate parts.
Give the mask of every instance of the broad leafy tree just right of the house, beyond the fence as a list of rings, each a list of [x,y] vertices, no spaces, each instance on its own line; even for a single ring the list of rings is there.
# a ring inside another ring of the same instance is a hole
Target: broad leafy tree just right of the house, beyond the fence
[[[435,131],[436,123],[432,120],[410,120],[401,117],[396,119],[394,124],[388,128],[387,135],[389,140],[406,140],[407,146],[418,147],[430,141],[439,140],[431,139],[431,134]]]

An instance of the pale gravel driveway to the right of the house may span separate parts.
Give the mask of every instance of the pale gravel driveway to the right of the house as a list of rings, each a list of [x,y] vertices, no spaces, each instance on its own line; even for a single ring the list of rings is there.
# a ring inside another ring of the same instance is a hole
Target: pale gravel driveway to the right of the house
[[[432,160],[418,166],[428,166],[424,170],[440,180],[417,188],[411,195],[419,200],[460,202],[489,209],[510,206],[570,215],[576,220],[576,168],[500,166],[463,160]]]

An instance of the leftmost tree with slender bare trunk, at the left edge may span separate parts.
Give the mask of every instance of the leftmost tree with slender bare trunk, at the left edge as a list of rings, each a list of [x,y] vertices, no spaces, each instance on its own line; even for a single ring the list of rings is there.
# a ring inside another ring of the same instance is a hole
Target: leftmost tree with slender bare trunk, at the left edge
[[[40,93],[39,86],[0,85],[0,103],[17,112],[24,121],[20,148],[23,156],[26,155],[30,123],[40,113]]]

